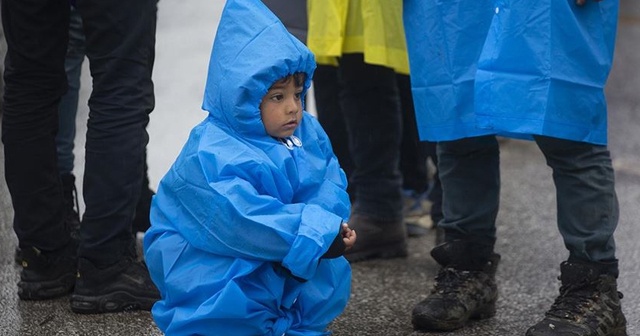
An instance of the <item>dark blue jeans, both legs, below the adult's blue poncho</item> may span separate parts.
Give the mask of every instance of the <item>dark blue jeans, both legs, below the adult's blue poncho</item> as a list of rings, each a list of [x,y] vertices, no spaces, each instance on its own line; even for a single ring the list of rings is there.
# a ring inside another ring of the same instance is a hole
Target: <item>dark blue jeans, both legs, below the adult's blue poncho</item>
[[[618,200],[606,146],[543,136],[535,136],[535,141],[553,170],[558,228],[569,260],[616,261]],[[496,138],[440,142],[438,160],[446,240],[472,239],[493,247],[500,197]]]

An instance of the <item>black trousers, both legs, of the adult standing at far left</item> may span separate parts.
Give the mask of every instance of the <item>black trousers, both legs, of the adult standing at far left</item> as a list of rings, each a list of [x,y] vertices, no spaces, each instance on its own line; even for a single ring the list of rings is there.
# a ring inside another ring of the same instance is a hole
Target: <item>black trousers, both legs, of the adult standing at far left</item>
[[[156,0],[77,0],[93,89],[83,181],[80,257],[98,265],[129,253],[140,195],[145,127],[154,107]],[[67,90],[69,2],[3,0],[7,39],[2,141],[5,179],[21,247],[55,250],[69,241],[55,135]]]

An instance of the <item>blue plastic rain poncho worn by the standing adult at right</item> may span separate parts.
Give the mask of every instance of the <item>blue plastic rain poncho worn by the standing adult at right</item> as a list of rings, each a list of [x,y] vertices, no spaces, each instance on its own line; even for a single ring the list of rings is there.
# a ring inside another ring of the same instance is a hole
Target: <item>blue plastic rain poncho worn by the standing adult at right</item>
[[[405,0],[420,137],[607,142],[618,1]]]

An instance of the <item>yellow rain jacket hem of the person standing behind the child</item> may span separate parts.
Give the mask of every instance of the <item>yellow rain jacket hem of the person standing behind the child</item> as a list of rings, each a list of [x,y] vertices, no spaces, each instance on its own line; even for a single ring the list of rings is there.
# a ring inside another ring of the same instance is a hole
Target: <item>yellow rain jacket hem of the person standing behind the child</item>
[[[402,1],[308,0],[307,46],[320,64],[362,53],[369,64],[409,74]]]

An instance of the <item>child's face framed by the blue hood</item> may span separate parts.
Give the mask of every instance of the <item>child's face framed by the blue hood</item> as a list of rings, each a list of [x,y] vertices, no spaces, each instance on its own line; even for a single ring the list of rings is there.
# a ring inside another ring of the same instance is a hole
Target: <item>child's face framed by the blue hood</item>
[[[291,77],[278,81],[269,88],[260,103],[260,116],[267,133],[272,137],[293,135],[302,120],[302,87]]]

